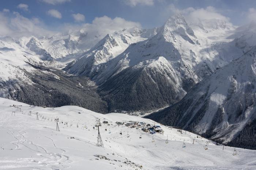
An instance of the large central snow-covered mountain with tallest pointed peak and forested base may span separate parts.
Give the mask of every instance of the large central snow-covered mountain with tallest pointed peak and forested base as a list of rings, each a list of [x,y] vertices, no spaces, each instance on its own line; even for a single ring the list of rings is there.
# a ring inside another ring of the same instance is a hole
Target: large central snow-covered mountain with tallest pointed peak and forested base
[[[202,27],[194,24],[195,33],[185,18],[177,14],[157,28],[154,36],[132,43],[117,57],[105,57],[113,54],[100,50],[100,58],[108,58],[108,61],[92,66],[97,56],[89,55],[93,57],[81,57],[65,70],[90,76],[100,85],[99,91],[111,111],[165,107],[179,101],[193,85],[215,69],[243,54],[234,39],[227,39],[235,27],[229,27],[229,23],[224,27],[218,20],[214,22],[220,26],[209,31],[202,31]],[[206,26],[208,28],[209,24]],[[219,39],[214,37],[217,32]],[[102,47],[95,46],[95,49]]]

